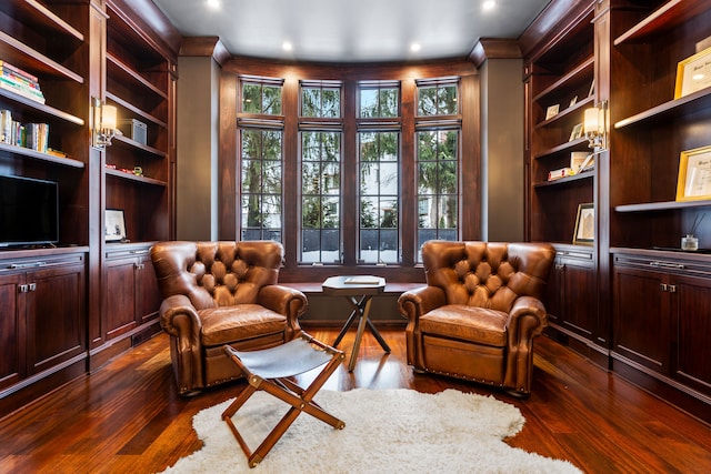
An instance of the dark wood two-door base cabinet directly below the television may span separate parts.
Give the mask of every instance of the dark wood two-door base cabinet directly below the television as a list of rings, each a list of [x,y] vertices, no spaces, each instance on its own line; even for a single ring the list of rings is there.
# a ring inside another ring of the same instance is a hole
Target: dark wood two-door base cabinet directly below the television
[[[84,361],[84,266],[83,252],[2,255],[0,394]]]

